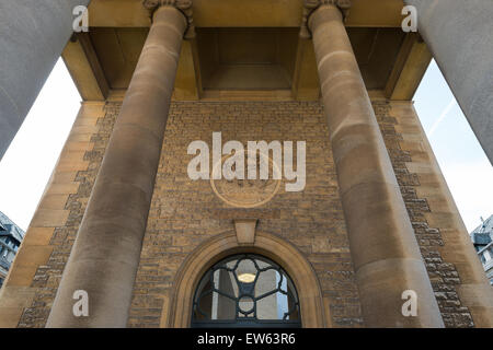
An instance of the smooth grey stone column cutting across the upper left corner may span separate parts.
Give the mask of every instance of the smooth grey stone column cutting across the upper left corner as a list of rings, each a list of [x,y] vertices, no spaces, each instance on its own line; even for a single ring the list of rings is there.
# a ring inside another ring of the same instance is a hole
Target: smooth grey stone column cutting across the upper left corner
[[[0,8],[0,160],[72,34],[73,8],[89,0],[9,1]]]

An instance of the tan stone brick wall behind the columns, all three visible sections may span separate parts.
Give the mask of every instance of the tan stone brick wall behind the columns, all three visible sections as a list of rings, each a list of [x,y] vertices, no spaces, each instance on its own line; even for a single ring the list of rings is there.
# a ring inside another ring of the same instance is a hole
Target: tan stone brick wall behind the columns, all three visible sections
[[[0,326],[46,324],[119,106],[82,106],[1,290]],[[412,103],[375,98],[374,108],[446,326],[478,326],[473,319],[481,319],[481,310],[466,306],[474,300],[467,289],[475,273],[466,252],[470,242]],[[211,144],[213,131],[221,131],[223,142],[244,144],[307,141],[305,190],[286,192],[282,186],[262,207],[234,209],[209,182],[190,182],[187,145]],[[239,212],[260,218],[259,231],[287,240],[307,257],[320,280],[329,326],[364,326],[326,122],[314,102],[172,104],[128,326],[164,325],[181,264],[205,240],[232,230]]]

